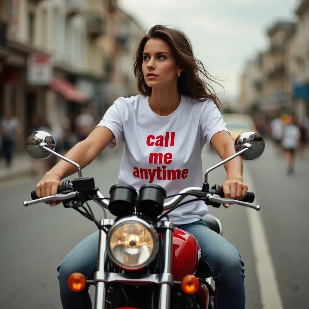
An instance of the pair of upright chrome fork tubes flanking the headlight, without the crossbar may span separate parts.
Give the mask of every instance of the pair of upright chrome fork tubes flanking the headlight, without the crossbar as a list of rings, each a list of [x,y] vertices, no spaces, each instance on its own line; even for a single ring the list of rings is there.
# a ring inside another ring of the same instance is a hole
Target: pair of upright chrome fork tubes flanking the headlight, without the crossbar
[[[101,220],[101,225],[112,225],[112,219]],[[173,283],[172,272],[172,250],[173,250],[173,231],[174,224],[169,221],[158,222],[158,227],[165,228],[162,238],[162,252],[163,252],[163,275],[169,275],[171,282],[163,282],[160,287],[159,294],[159,308],[169,309],[171,300],[171,286]],[[106,234],[104,231],[99,231],[99,254],[98,254],[98,267],[97,272],[104,273],[107,270],[104,269],[105,265],[105,252],[106,252]],[[95,284],[95,309],[105,309],[107,283],[99,281],[97,273],[94,276]]]

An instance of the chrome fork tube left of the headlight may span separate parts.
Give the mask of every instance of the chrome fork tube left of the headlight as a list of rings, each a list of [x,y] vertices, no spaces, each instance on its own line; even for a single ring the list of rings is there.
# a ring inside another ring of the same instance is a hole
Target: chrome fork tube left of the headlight
[[[112,224],[113,220],[103,219],[101,225]],[[98,248],[98,266],[97,271],[104,272],[105,252],[106,252],[106,234],[104,231],[99,231],[99,248]],[[96,279],[96,275],[95,275]],[[95,309],[104,309],[106,301],[106,283],[95,282]]]

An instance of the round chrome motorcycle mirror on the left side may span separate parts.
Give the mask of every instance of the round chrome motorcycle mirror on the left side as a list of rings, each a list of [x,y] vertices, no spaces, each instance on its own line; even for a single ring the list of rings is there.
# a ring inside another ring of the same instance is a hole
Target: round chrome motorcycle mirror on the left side
[[[51,150],[55,150],[55,140],[54,138],[45,131],[36,131],[29,135],[26,142],[26,149],[29,155],[34,159],[48,159],[52,153],[45,150],[41,143],[44,143],[44,146],[48,147]]]

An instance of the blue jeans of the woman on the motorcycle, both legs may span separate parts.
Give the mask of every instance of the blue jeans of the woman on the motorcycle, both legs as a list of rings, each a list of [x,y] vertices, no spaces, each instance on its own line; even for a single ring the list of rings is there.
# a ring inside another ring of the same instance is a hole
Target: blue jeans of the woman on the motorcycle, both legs
[[[205,268],[202,270],[211,274],[215,281],[215,308],[244,309],[244,264],[237,250],[221,235],[210,230],[203,220],[177,227],[192,234],[201,247],[201,265]],[[97,231],[81,241],[58,266],[60,298],[64,309],[92,309],[88,290],[72,292],[68,277],[71,273],[79,272],[87,279],[93,279],[98,241]]]

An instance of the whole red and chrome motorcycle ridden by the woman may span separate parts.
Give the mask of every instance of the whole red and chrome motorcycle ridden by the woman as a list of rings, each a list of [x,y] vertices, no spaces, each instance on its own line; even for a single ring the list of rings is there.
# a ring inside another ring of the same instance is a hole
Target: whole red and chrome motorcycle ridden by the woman
[[[68,285],[74,292],[95,285],[95,309],[207,309],[214,306],[214,289],[211,276],[199,276],[201,250],[197,240],[168,221],[168,213],[192,201],[220,207],[223,203],[237,204],[260,210],[253,205],[254,193],[239,201],[224,198],[219,185],[210,188],[208,174],[222,164],[240,156],[253,160],[264,151],[265,143],[260,134],[241,133],[235,140],[236,154],[210,167],[205,172],[201,188],[189,187],[176,196],[167,196],[159,185],[146,184],[139,191],[129,185],[113,185],[106,198],[95,186],[92,177],[82,177],[81,167],[54,151],[53,137],[44,131],[32,133],[26,148],[33,158],[47,159],[55,155],[78,169],[78,178],[65,180],[57,194],[38,198],[32,191],[32,201],[25,207],[40,202],[60,200],[65,208],[73,208],[93,221],[99,228],[98,265],[93,280],[86,280],[81,273],[72,273]],[[193,196],[181,202],[184,197]],[[164,202],[165,199],[171,198]],[[88,204],[94,201],[109,210],[115,219],[98,221]],[[86,205],[87,208],[84,206]],[[167,218],[164,220],[164,218]],[[207,214],[206,224],[222,234],[218,218]]]

